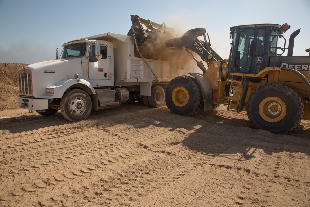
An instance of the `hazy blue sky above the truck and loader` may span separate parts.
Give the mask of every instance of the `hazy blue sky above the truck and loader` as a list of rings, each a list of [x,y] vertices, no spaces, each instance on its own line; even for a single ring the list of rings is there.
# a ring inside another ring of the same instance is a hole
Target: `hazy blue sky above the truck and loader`
[[[284,34],[301,28],[293,55],[308,56],[310,0],[0,0],[0,62],[36,63],[56,58],[56,48],[73,39],[106,32],[127,34],[130,15],[174,27],[180,36],[204,27],[211,47],[229,55],[230,27],[288,23]],[[286,55],[286,53],[285,53]]]

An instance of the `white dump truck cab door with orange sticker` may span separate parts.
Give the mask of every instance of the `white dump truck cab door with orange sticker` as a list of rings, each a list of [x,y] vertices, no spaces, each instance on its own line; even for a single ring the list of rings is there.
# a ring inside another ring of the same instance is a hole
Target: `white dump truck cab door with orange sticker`
[[[91,45],[91,51],[88,57],[88,78],[90,80],[107,80],[109,69],[108,69],[108,47],[106,45],[100,45],[100,53],[102,58],[98,60],[95,56],[95,47]]]

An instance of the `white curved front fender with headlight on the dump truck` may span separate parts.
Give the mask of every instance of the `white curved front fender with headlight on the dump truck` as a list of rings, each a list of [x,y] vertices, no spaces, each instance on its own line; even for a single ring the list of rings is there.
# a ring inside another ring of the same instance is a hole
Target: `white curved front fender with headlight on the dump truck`
[[[55,85],[47,87],[47,88],[54,89],[54,94],[56,95],[56,97],[51,97],[51,98],[62,98],[64,93],[67,92],[67,90],[72,87],[82,88],[83,90],[85,90],[86,92],[90,94],[96,93],[91,83],[89,83],[88,81],[84,79],[72,79],[72,78],[63,79],[59,81],[58,83],[56,83]]]

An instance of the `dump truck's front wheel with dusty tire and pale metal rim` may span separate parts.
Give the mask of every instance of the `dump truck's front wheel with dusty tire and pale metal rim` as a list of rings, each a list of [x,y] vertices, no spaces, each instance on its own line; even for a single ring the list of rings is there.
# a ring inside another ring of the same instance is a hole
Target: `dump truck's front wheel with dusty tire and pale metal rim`
[[[85,120],[91,113],[91,97],[83,90],[73,89],[62,97],[60,110],[69,121]]]

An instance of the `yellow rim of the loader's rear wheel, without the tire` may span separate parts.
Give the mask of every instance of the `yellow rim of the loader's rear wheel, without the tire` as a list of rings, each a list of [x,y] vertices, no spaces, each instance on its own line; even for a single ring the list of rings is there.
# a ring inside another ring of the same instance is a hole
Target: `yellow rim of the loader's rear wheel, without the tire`
[[[259,104],[259,114],[265,121],[278,122],[286,115],[286,105],[277,97],[268,97]]]

